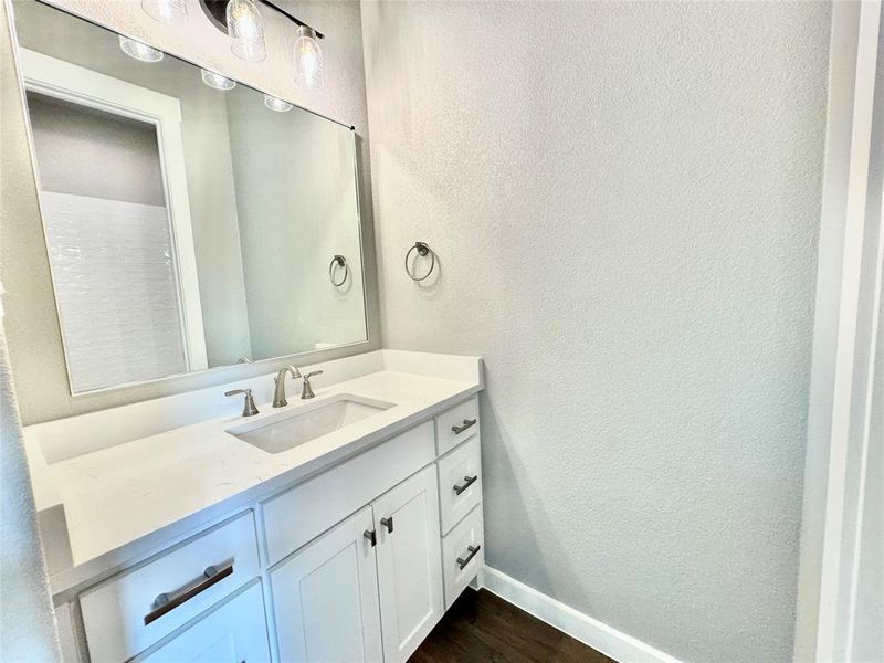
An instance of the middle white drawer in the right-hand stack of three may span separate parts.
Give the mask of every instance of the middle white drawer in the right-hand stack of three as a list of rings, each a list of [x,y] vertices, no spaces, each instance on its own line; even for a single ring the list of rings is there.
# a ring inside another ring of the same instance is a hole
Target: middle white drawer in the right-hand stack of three
[[[473,438],[439,459],[439,507],[442,534],[482,502],[482,459]]]

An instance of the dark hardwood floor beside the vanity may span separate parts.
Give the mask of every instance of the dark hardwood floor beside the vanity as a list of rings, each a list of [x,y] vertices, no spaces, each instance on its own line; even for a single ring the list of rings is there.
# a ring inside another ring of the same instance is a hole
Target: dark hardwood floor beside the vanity
[[[409,663],[612,663],[490,591],[467,588]]]

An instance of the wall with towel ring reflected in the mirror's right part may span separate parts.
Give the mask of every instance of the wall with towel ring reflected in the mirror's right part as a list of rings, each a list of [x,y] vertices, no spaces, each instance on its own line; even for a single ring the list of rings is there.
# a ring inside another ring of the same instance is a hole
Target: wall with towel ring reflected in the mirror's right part
[[[364,340],[350,130],[297,108],[269,112],[254,91],[227,99],[253,357]],[[335,254],[350,267],[338,288]]]

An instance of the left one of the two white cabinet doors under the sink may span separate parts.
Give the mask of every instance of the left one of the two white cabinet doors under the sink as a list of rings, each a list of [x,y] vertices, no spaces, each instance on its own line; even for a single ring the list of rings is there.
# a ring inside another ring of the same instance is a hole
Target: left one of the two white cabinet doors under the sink
[[[373,529],[366,506],[271,570],[282,663],[382,660]]]

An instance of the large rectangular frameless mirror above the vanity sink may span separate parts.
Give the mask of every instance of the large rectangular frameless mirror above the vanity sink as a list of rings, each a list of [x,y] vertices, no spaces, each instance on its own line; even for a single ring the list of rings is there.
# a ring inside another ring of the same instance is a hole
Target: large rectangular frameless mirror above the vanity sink
[[[72,393],[367,340],[349,127],[13,9]]]

